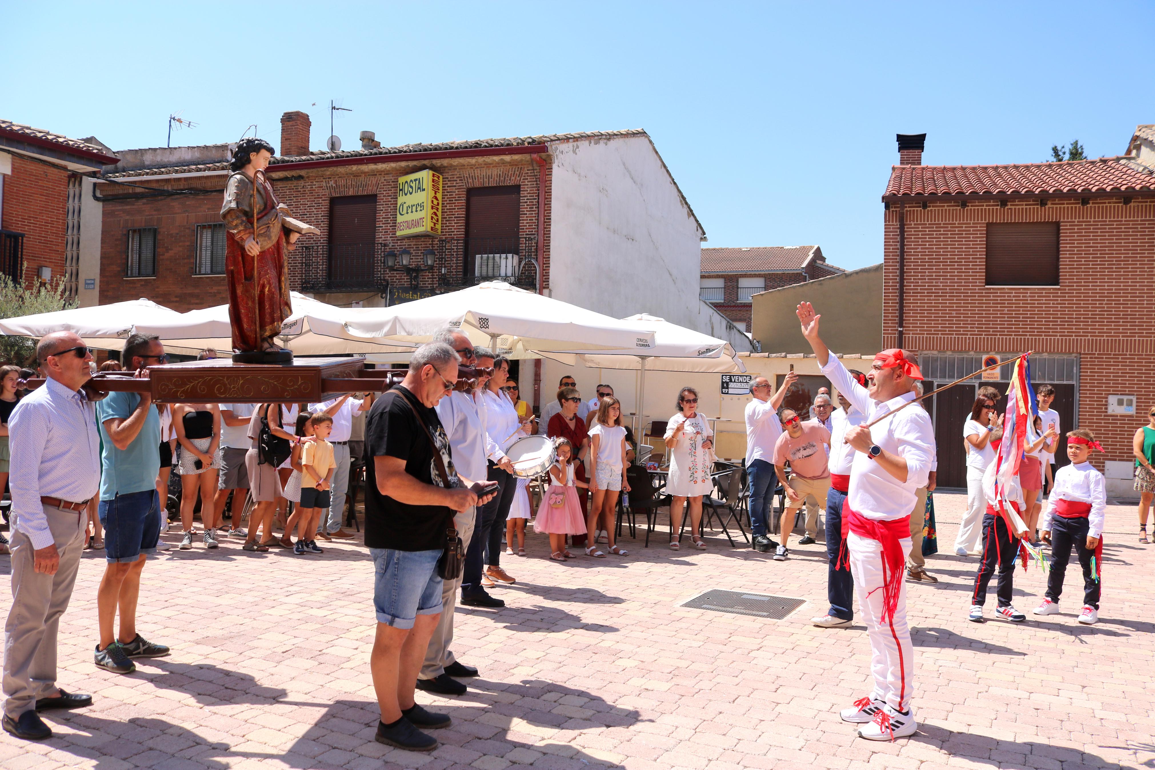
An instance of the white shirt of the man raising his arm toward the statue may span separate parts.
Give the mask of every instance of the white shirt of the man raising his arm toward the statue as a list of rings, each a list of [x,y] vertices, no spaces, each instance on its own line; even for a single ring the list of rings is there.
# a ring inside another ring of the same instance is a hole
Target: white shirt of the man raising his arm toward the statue
[[[914,393],[907,393],[887,402],[874,401],[870,397],[870,391],[850,376],[834,353],[830,353],[822,367],[822,374],[855,409],[866,416],[867,423],[916,397]],[[907,480],[900,481],[870,455],[851,449],[854,462],[850,466],[850,494],[847,502],[865,518],[904,518],[915,508],[917,489],[926,486],[934,458],[934,428],[931,426],[931,418],[926,410],[911,406],[887,417],[870,431],[873,442],[884,451],[907,461]]]

